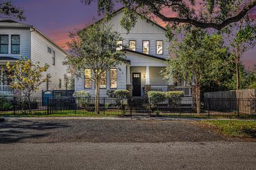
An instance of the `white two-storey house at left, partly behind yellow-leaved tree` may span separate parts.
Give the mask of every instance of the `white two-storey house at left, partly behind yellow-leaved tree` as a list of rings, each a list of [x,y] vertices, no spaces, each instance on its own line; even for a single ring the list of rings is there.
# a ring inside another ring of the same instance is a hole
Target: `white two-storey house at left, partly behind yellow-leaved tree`
[[[0,20],[0,64],[10,65],[20,59],[20,56],[31,59],[31,62],[49,64],[47,73],[51,74],[49,82],[40,86],[35,97],[42,96],[42,90],[66,89],[67,66],[63,61],[67,52],[56,45],[32,25],[22,24],[13,20]],[[12,95],[10,83],[6,74],[0,76],[0,94]]]

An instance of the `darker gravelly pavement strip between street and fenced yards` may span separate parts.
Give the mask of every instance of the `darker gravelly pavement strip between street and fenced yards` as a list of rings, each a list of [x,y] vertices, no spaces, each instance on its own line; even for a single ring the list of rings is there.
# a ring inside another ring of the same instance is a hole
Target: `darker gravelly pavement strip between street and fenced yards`
[[[0,143],[166,143],[228,140],[193,122],[157,120],[11,119],[0,124]]]

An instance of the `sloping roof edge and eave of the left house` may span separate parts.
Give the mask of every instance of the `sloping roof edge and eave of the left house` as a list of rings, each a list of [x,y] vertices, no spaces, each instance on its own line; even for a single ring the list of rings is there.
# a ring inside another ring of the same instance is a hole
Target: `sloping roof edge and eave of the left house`
[[[0,27],[19,27],[19,28],[30,28],[30,29],[33,29],[33,31],[38,32],[41,36],[43,36],[45,39],[50,41],[53,45],[58,47],[62,52],[64,52],[66,55],[68,55],[68,53],[63,48],[61,48],[59,45],[57,45],[54,41],[52,41],[51,38],[46,36],[39,29],[36,29],[36,27],[34,27],[33,25],[28,25],[28,24],[24,24],[24,23],[21,23],[21,22],[16,22],[15,20],[0,20]]]

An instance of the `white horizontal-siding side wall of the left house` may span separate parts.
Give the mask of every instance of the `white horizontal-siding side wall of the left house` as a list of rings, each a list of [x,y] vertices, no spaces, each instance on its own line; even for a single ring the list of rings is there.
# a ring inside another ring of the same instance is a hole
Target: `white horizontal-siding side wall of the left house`
[[[56,53],[55,65],[52,65],[52,53],[47,52],[47,48],[51,48]],[[37,31],[31,32],[31,61],[40,62],[41,65],[49,64],[47,74],[51,74],[49,81],[50,90],[65,90],[65,74],[67,73],[68,67],[63,65],[63,61],[67,53],[63,52],[54,45],[51,41],[44,38],[42,34]],[[59,81],[61,80],[61,89],[59,88]],[[40,85],[40,89],[35,94],[35,97],[42,96],[42,90],[47,89],[47,83]]]

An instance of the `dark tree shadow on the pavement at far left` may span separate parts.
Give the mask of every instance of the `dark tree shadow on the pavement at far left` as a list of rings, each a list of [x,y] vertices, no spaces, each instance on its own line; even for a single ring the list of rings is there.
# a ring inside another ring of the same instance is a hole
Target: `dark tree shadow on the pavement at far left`
[[[68,127],[63,123],[12,120],[0,123],[0,143],[17,143],[26,139],[44,138],[49,132],[44,130]]]

